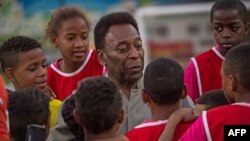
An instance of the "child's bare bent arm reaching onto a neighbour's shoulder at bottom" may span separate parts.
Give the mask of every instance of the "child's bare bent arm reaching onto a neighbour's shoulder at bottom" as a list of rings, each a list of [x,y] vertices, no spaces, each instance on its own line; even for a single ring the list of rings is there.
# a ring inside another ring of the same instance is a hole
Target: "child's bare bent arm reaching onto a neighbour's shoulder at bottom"
[[[193,111],[192,108],[181,108],[173,112],[158,141],[172,141],[175,129],[180,122],[188,122],[196,119]]]

